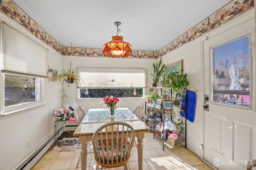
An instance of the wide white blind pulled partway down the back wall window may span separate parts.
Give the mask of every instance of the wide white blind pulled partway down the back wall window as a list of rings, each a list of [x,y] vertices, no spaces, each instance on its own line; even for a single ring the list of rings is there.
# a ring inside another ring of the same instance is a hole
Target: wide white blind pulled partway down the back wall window
[[[146,70],[132,68],[77,68],[78,88],[146,88]]]

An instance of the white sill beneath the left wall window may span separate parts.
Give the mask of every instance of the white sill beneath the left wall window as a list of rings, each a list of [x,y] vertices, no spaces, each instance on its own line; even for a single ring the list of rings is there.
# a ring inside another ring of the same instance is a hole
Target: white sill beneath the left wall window
[[[26,113],[26,112],[34,110],[34,109],[38,109],[38,108],[44,107],[46,104],[47,103],[37,104],[37,105],[34,105],[34,106],[30,106],[30,107],[26,107],[26,108],[22,108],[22,109],[17,109],[15,111],[10,111],[10,112],[6,112],[6,113],[2,113],[0,115],[0,120],[4,120],[4,119],[7,119],[7,118],[16,116],[16,115],[20,115],[20,114]]]

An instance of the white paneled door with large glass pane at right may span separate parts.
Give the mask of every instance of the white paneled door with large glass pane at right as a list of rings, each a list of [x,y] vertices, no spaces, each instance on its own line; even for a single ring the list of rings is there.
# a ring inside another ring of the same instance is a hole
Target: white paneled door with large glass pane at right
[[[204,160],[220,170],[246,170],[246,166],[240,164],[256,158],[256,114],[252,109],[212,103],[215,75],[211,75],[211,47],[250,33],[253,27],[254,19],[231,29],[219,29],[203,41],[204,94],[209,95],[209,111],[204,111]]]

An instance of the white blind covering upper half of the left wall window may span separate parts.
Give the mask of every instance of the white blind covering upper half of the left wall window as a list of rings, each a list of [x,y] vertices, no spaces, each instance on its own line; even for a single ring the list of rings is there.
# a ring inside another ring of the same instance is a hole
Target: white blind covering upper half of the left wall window
[[[2,22],[1,72],[47,78],[47,51]]]

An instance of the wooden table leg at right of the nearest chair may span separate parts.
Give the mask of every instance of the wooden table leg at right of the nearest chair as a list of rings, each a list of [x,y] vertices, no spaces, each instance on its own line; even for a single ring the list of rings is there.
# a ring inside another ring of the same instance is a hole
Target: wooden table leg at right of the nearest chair
[[[138,149],[138,168],[139,170],[143,170],[143,138],[144,138],[144,132],[138,132],[137,135],[138,138],[138,145],[137,145],[137,149]]]

